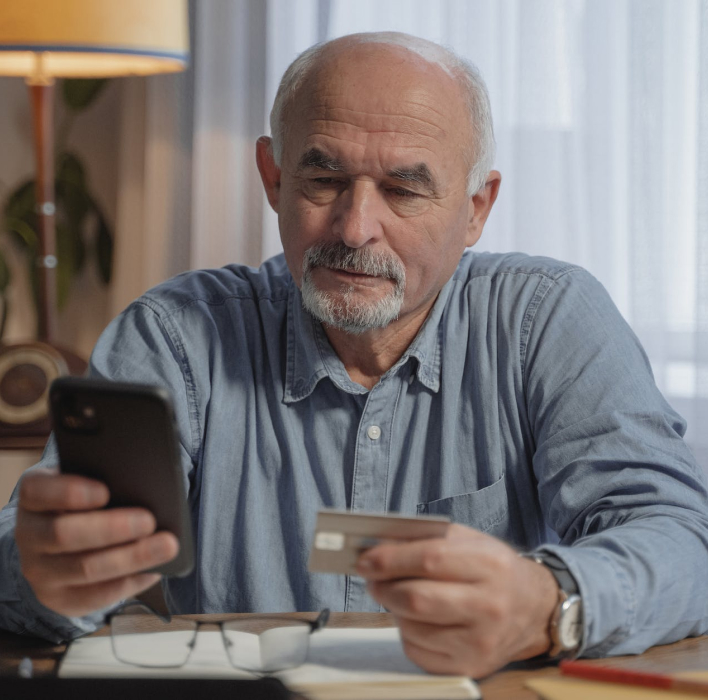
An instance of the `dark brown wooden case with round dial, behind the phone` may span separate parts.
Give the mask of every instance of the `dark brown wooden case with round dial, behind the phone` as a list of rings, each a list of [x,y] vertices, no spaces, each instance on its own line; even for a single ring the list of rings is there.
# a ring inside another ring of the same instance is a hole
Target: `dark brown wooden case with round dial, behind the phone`
[[[42,342],[0,344],[0,449],[41,448],[51,432],[49,386],[86,371],[85,360]]]

